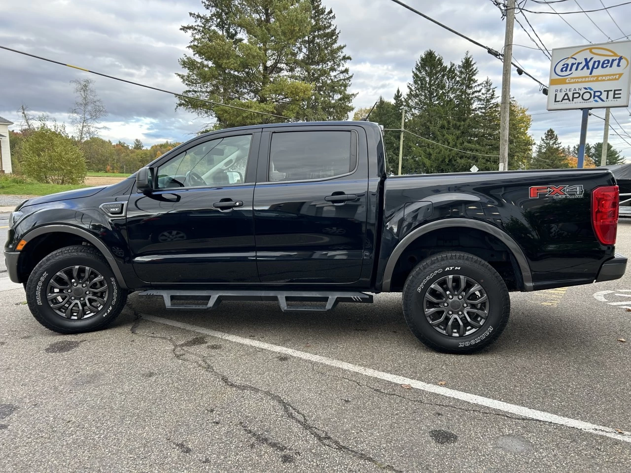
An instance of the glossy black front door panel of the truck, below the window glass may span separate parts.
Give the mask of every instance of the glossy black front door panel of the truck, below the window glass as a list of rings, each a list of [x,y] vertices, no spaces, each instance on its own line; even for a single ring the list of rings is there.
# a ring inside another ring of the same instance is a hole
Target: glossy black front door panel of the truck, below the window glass
[[[149,283],[256,283],[253,185],[134,194],[127,207],[133,266]],[[232,209],[213,204],[232,199]]]

